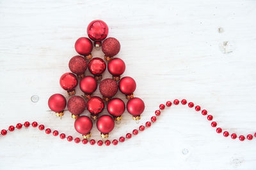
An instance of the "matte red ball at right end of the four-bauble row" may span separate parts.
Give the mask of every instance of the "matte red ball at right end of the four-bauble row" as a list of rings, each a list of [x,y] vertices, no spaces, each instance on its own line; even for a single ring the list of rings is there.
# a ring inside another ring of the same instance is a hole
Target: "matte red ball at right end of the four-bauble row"
[[[119,90],[125,94],[125,95],[130,95],[132,94],[135,89],[136,89],[136,82],[133,80],[133,78],[126,76],[123,77],[119,81]]]

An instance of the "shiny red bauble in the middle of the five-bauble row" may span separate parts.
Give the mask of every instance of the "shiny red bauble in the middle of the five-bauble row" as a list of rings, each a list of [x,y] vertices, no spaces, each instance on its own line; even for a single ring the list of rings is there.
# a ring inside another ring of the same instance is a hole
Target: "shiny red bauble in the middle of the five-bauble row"
[[[99,113],[101,113],[104,109],[104,102],[100,97],[93,96],[88,100],[86,104],[87,110],[91,113],[92,118],[95,120]]]

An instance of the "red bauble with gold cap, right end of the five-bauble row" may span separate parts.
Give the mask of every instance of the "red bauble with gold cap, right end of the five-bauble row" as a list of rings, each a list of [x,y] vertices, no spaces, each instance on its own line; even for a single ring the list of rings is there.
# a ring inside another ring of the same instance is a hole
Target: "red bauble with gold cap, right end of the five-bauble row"
[[[134,120],[140,120],[140,115],[145,109],[145,104],[140,98],[134,97],[127,102],[126,108]]]

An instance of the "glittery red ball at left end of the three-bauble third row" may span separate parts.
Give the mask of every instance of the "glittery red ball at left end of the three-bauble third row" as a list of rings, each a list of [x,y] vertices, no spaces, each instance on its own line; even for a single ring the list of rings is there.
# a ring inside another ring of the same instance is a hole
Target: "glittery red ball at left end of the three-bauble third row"
[[[87,69],[87,61],[84,57],[76,55],[69,60],[68,67],[72,73],[81,75]]]

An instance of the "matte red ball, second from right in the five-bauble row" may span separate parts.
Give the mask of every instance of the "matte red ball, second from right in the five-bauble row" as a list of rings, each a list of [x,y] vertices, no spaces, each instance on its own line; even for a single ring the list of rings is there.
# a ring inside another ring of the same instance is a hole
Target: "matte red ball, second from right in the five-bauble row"
[[[107,110],[113,117],[120,117],[125,111],[125,103],[121,99],[111,99],[107,105]]]

